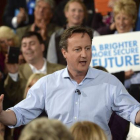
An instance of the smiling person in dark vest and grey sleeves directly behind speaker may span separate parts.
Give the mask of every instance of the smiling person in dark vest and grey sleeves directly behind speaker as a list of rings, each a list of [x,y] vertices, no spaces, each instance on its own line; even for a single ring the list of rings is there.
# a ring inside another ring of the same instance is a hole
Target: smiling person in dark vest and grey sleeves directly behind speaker
[[[66,28],[82,25],[87,18],[87,10],[81,0],[70,0],[65,5],[64,13],[67,19],[67,24],[64,28],[61,28],[52,34],[48,46],[47,60],[51,63],[67,65],[59,47],[61,34]],[[98,35],[99,34],[94,31],[94,36]]]

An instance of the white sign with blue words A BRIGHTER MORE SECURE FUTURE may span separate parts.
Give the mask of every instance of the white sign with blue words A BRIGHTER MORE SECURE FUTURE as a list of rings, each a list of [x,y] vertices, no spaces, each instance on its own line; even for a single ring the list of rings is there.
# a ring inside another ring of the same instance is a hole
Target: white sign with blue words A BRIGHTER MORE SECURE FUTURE
[[[140,32],[94,37],[90,65],[103,66],[110,73],[140,71]]]

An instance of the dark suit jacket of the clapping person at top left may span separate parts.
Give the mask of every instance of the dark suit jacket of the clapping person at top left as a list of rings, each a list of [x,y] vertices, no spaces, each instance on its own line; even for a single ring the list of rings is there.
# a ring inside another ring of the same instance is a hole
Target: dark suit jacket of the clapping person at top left
[[[15,9],[19,9],[20,7],[24,8],[26,11],[28,11],[26,0],[7,0],[7,5],[5,7],[5,11],[4,11],[4,15],[3,15],[3,21],[4,21],[5,25],[7,25],[11,28],[14,28],[12,26],[12,18],[15,16]],[[33,23],[34,15],[28,15],[28,17],[29,17],[28,24]],[[25,25],[27,25],[27,24],[21,24],[19,27],[25,26]]]

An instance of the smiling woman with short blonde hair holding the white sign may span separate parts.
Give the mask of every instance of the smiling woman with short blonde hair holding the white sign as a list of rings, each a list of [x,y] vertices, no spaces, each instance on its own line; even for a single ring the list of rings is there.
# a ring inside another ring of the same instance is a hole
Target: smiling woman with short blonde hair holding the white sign
[[[133,31],[137,19],[137,7],[133,0],[117,0],[113,7],[113,13],[116,28],[114,34],[129,33]],[[128,79],[124,81],[125,87],[128,88],[131,85],[130,81],[133,81],[132,79],[137,77],[136,74],[133,74],[134,72],[130,70],[125,73],[122,72],[119,75],[117,74],[117,77],[119,77],[120,81]],[[124,82],[122,83],[124,84]]]

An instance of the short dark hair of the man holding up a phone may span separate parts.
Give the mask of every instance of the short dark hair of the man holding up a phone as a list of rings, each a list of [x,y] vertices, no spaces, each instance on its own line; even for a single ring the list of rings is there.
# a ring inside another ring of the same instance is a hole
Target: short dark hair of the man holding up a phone
[[[43,44],[44,43],[43,42],[43,39],[42,39],[42,36],[38,32],[33,32],[33,31],[26,32],[22,36],[22,39],[21,40],[23,40],[24,38],[31,37],[31,36],[36,36],[40,44]]]

